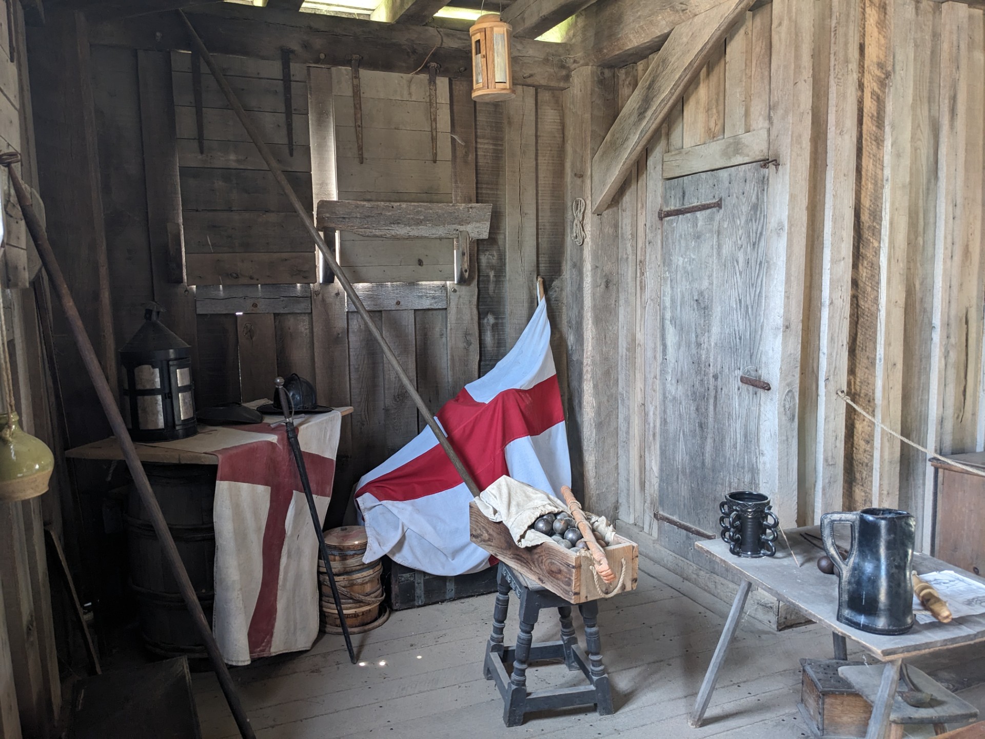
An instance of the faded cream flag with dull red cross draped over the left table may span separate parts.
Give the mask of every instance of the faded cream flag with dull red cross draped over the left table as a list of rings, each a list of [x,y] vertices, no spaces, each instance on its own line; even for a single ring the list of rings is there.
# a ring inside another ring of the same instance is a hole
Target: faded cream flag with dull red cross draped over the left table
[[[269,425],[275,420],[209,430],[219,447],[209,449],[219,457],[213,631],[233,665],[308,649],[318,636],[318,539],[284,425]],[[340,422],[335,411],[296,423],[320,520],[332,496]]]

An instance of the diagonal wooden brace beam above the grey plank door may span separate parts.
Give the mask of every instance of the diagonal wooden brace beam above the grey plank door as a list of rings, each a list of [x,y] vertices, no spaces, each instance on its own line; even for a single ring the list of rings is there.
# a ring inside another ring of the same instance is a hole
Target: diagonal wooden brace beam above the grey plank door
[[[752,4],[724,0],[671,32],[592,158],[593,213],[610,206],[653,134]]]

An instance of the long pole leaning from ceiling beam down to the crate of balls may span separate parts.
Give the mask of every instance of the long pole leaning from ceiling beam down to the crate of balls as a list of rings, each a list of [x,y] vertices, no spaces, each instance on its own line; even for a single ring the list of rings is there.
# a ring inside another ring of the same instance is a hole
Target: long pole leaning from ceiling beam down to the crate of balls
[[[250,137],[253,144],[256,145],[257,151],[260,153],[263,161],[267,163],[267,167],[270,168],[271,173],[273,173],[274,179],[276,179],[277,183],[281,185],[281,189],[284,190],[284,194],[287,195],[288,200],[291,201],[291,205],[294,206],[297,211],[297,215],[304,223],[304,228],[307,229],[308,234],[311,235],[311,238],[313,238],[314,242],[318,245],[318,249],[321,251],[325,261],[328,262],[328,266],[335,274],[335,277],[342,286],[342,289],[346,291],[346,295],[349,296],[349,300],[356,305],[356,311],[362,316],[362,320],[365,321],[366,328],[369,329],[369,333],[376,340],[376,343],[379,344],[380,349],[383,350],[383,356],[386,357],[386,361],[390,363],[393,370],[400,378],[401,383],[403,383],[404,387],[407,388],[407,392],[414,401],[414,404],[418,407],[418,410],[421,411],[421,415],[424,416],[424,419],[427,422],[427,427],[434,434],[434,437],[437,438],[437,442],[441,445],[441,448],[444,449],[444,453],[448,455],[448,459],[451,460],[451,463],[455,466],[455,470],[461,476],[462,480],[465,481],[465,485],[468,487],[469,492],[472,493],[473,496],[478,497],[481,492],[479,490],[479,486],[476,485],[476,481],[472,479],[472,475],[469,471],[465,469],[465,465],[462,464],[462,460],[458,457],[458,454],[455,453],[451,443],[449,443],[448,437],[444,436],[444,432],[441,431],[441,427],[437,425],[437,422],[434,420],[434,416],[427,408],[427,403],[425,403],[424,398],[422,398],[418,393],[418,389],[414,386],[414,383],[411,382],[411,378],[407,376],[407,372],[404,371],[403,367],[401,367],[400,360],[397,359],[397,355],[393,353],[390,345],[386,342],[386,339],[383,338],[383,334],[379,330],[379,327],[375,324],[375,322],[373,322],[372,318],[369,317],[369,311],[366,310],[366,306],[362,304],[362,301],[357,294],[356,289],[353,287],[353,284],[349,281],[346,273],[342,271],[342,268],[336,261],[335,255],[332,253],[332,249],[328,248],[328,244],[325,243],[325,239],[322,238],[321,234],[318,233],[318,229],[315,228],[314,220],[311,218],[311,214],[297,197],[291,183],[288,182],[287,177],[284,176],[284,171],[281,169],[280,165],[277,164],[277,160],[274,159],[274,155],[271,154],[270,148],[264,143],[263,138],[260,136],[260,132],[257,130],[256,126],[253,125],[253,121],[246,114],[243,106],[239,103],[239,99],[236,98],[236,94],[230,87],[230,83],[226,80],[226,75],[223,74],[223,71],[216,64],[215,59],[212,58],[212,54],[209,53],[209,49],[207,49],[205,44],[202,43],[202,39],[195,33],[195,29],[188,21],[187,16],[185,16],[185,14],[180,10],[176,12],[181,17],[184,25],[187,27],[188,33],[191,34],[192,47],[199,53],[208,65],[209,69],[212,71],[212,76],[216,78],[216,83],[219,85],[220,90],[223,91],[223,95],[226,96],[226,100],[229,101],[232,111],[236,114],[236,117],[239,118],[239,122],[243,124],[243,128],[246,129],[246,134]]]

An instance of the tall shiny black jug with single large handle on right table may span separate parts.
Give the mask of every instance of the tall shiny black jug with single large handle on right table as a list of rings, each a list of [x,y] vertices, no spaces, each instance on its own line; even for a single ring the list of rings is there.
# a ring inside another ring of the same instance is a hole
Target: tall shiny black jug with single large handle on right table
[[[834,543],[835,523],[852,529],[844,559]],[[870,634],[908,632],[913,627],[910,568],[916,519],[892,508],[824,513],[821,539],[838,573],[838,621]]]

